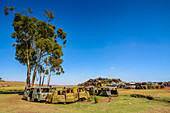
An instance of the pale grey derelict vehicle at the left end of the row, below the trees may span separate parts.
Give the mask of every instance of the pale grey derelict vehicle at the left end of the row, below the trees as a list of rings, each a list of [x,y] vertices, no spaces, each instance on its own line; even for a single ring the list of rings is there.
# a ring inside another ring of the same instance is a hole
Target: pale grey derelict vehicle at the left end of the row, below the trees
[[[27,88],[24,91],[23,99],[28,101],[46,101],[47,95],[52,94],[51,87],[36,86]]]

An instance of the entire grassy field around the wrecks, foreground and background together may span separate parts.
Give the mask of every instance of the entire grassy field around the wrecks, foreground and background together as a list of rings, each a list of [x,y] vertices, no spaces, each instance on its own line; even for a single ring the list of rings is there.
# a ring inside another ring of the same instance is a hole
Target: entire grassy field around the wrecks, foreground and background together
[[[23,90],[23,86],[1,87],[0,91]],[[107,97],[100,97],[99,103],[76,102],[70,104],[47,104],[22,100],[22,95],[0,94],[0,113],[169,113],[170,103],[130,97],[130,94],[151,95],[156,98],[170,99],[170,89],[126,90],[119,89],[119,96],[108,102]]]

